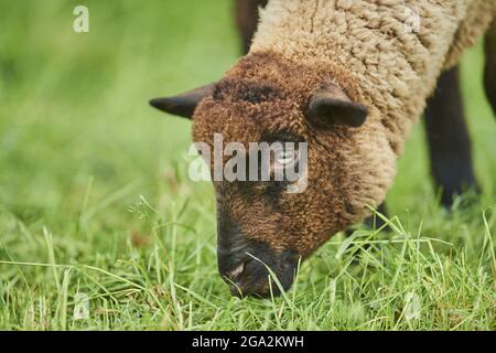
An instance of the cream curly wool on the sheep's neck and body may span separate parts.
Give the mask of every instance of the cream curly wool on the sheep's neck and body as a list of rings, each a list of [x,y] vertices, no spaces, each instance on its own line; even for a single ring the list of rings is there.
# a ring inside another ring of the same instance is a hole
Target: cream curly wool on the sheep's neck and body
[[[408,26],[414,14],[419,31]],[[250,53],[344,69],[377,108],[369,120],[380,121],[399,156],[441,72],[495,14],[496,0],[271,0]]]

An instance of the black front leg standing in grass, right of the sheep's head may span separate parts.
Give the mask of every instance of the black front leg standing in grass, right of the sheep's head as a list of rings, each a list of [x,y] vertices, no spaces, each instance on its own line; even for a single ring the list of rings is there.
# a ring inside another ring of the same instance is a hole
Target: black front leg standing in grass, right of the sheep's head
[[[465,124],[459,67],[443,73],[425,109],[425,128],[435,186],[444,206],[468,188],[477,188]]]

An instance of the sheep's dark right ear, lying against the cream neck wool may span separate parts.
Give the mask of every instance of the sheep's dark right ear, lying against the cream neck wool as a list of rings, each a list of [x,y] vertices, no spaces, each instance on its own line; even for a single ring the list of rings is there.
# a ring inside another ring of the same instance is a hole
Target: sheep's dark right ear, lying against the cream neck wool
[[[321,127],[364,125],[367,106],[353,101],[337,86],[331,85],[315,92],[309,100],[308,118]]]

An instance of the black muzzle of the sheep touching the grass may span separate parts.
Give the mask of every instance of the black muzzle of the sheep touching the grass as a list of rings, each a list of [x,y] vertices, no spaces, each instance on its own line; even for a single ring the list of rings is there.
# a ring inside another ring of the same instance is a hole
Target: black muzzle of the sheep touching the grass
[[[280,289],[270,278],[270,268],[278,277],[283,290],[291,288],[298,257],[293,252],[277,253],[263,244],[250,244],[242,248],[219,247],[218,269],[236,297],[270,297],[280,295]]]

